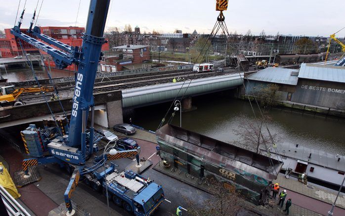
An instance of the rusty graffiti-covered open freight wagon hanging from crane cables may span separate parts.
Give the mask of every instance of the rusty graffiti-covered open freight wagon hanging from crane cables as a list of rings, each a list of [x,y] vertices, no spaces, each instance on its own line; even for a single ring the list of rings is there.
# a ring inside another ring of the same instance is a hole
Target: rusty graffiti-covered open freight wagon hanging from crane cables
[[[172,166],[196,178],[228,183],[256,205],[263,205],[270,183],[282,168],[281,161],[237,146],[165,125],[156,131],[160,156]]]

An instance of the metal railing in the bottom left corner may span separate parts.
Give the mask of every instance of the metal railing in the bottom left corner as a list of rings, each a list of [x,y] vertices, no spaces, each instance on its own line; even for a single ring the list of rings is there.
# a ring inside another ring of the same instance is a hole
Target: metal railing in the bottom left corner
[[[1,185],[0,196],[8,216],[31,216]]]

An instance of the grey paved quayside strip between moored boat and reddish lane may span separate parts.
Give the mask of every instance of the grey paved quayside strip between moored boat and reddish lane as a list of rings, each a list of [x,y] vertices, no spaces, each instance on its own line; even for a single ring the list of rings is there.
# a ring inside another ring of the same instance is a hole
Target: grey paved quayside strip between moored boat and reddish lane
[[[294,178],[285,178],[284,175],[278,174],[277,180],[279,186],[300,193],[302,195],[320,200],[325,203],[332,204],[336,199],[337,192],[325,190],[315,186],[304,185]],[[336,202],[336,206],[345,209],[345,196],[341,193]]]

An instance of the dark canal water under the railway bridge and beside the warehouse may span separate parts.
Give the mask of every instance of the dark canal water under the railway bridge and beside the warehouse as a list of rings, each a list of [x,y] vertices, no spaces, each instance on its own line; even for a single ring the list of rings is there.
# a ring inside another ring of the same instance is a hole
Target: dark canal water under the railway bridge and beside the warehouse
[[[243,122],[254,122],[254,115],[248,101],[227,95],[218,93],[194,97],[193,105],[197,106],[197,110],[182,113],[182,128],[224,142],[238,140],[240,137],[235,131]],[[170,103],[164,103],[137,108],[132,114],[133,124],[155,131],[169,106]],[[166,119],[171,117],[171,113]],[[279,137],[278,144],[287,142],[345,155],[345,120],[275,108],[269,110],[267,115],[271,119],[268,129]],[[127,118],[129,116],[125,116],[125,121]],[[176,113],[172,123],[179,125],[179,113]]]

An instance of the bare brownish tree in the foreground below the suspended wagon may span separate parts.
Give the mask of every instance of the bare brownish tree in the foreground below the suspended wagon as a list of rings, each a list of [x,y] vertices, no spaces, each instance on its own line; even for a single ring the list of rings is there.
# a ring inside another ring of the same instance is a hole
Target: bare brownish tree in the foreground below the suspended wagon
[[[202,206],[183,197],[189,206],[189,215],[236,216],[241,209],[251,209],[251,206],[235,191],[235,187],[228,182],[212,179],[210,187],[212,187],[210,191],[212,191],[213,197],[203,202]]]

